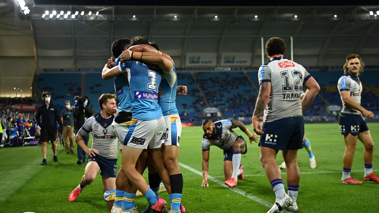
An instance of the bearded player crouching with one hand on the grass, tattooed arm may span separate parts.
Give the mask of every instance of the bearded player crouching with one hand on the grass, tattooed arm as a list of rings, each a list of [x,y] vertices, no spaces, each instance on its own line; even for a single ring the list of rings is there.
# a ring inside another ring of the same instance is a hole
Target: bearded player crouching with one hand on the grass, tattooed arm
[[[205,119],[202,123],[204,130],[202,140],[203,150],[203,183],[201,187],[209,186],[208,184],[208,161],[209,161],[209,148],[211,145],[218,146],[224,150],[224,175],[225,184],[230,187],[237,185],[237,179],[243,180],[243,165],[241,163],[241,154],[247,152],[246,141],[242,136],[238,136],[233,132],[233,128],[240,127],[249,137],[250,143],[256,142],[255,136],[245,127],[245,125],[238,120],[221,120],[213,123],[209,119]]]

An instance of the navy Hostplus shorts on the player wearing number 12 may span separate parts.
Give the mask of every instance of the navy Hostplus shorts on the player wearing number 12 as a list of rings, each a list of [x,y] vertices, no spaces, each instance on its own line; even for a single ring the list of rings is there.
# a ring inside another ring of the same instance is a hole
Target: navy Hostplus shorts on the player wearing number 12
[[[304,117],[291,116],[264,122],[258,146],[276,150],[298,150],[304,147]]]

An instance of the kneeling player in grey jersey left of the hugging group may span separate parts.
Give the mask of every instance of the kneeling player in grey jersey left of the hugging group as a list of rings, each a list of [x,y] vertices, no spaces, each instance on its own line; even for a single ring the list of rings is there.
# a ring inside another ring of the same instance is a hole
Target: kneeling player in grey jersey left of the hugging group
[[[87,185],[95,180],[100,172],[103,179],[103,191],[116,190],[116,164],[118,140],[111,126],[114,114],[117,111],[116,95],[102,94],[99,98],[101,113],[88,118],[75,137],[80,146],[88,155],[88,163],[84,170],[80,184],[69,195],[69,201],[74,201]],[[88,149],[83,138],[92,134],[92,147]],[[108,210],[111,210],[112,201],[107,201]]]

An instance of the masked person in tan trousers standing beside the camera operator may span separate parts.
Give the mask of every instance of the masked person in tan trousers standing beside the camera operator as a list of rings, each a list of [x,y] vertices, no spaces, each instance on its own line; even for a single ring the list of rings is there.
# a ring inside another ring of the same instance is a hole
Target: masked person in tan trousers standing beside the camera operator
[[[74,109],[71,108],[69,100],[66,100],[64,106],[62,110],[64,148],[67,154],[70,152],[74,154],[74,116],[72,115]]]

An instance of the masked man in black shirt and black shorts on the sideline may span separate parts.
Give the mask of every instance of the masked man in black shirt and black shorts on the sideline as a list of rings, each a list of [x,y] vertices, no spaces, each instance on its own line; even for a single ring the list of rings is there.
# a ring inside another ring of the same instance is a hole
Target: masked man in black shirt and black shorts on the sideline
[[[36,120],[38,125],[41,127],[41,138],[42,142],[42,160],[41,165],[46,165],[46,148],[47,142],[51,142],[52,150],[54,153],[54,162],[58,162],[56,157],[56,122],[58,122],[60,127],[60,132],[63,131],[62,117],[61,113],[58,110],[58,107],[50,102],[51,94],[50,92],[42,92],[42,100],[44,103],[38,107]]]

